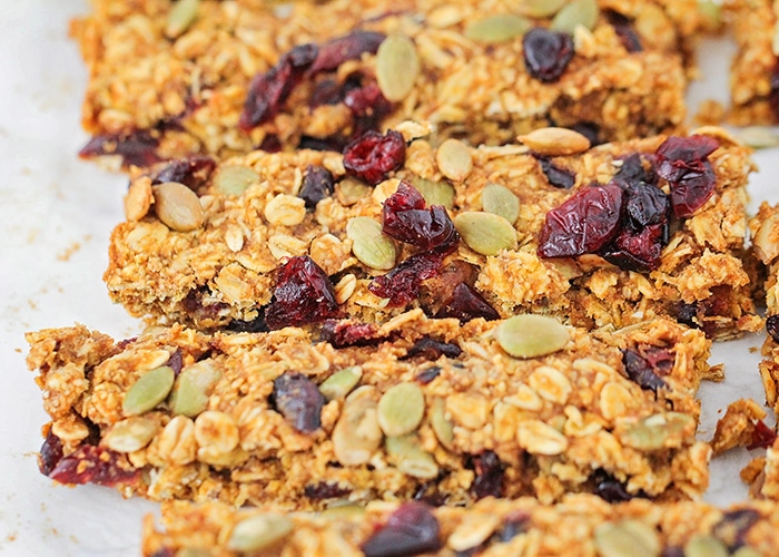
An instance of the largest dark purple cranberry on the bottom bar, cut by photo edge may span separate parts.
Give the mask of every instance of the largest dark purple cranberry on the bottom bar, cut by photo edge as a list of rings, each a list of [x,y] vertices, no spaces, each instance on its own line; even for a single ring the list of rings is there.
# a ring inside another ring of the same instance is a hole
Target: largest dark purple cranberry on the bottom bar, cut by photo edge
[[[437,551],[441,527],[430,508],[421,502],[405,502],[384,526],[371,536],[361,549],[366,557],[402,557]]]

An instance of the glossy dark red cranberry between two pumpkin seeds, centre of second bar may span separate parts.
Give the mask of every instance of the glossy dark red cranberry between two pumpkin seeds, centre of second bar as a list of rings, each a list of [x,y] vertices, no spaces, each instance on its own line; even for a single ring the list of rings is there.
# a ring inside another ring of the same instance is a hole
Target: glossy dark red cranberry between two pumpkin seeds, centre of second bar
[[[382,232],[422,250],[451,250],[460,240],[443,206],[424,208],[422,194],[405,180],[384,202]]]

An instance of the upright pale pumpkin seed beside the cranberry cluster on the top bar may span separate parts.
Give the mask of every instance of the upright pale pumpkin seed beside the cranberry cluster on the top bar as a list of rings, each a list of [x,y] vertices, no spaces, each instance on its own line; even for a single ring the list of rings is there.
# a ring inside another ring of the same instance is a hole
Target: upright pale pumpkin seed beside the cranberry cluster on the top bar
[[[416,46],[405,35],[391,35],[376,51],[376,80],[387,100],[398,102],[414,88],[422,65]]]

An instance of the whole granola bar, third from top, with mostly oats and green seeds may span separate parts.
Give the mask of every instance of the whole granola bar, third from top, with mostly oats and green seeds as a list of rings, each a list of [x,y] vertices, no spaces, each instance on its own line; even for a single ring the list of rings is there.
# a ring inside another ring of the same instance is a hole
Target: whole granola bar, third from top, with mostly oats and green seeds
[[[342,348],[317,342],[328,326],[175,325],[118,343],[83,326],[29,333],[51,417],[41,470],[154,500],[298,510],[707,487],[700,331],[658,319],[593,336],[552,317],[461,325],[420,310],[371,335],[339,325]]]

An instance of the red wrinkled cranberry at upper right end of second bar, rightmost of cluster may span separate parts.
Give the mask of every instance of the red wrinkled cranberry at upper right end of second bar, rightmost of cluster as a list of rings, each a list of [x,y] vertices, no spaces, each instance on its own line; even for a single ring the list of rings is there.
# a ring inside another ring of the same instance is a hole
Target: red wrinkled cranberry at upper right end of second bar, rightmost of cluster
[[[658,174],[671,186],[671,205],[678,217],[692,215],[714,193],[717,176],[707,157],[719,144],[707,136],[671,136],[658,147]]]

